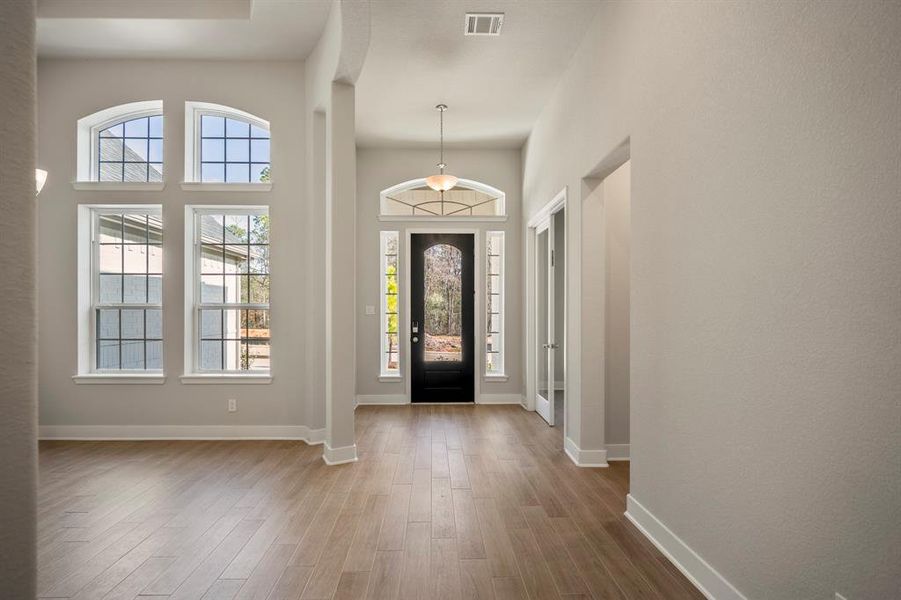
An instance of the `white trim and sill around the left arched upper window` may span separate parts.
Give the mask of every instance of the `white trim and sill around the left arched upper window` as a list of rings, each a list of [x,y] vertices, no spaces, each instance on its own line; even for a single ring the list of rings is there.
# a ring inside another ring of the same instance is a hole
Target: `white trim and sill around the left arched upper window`
[[[94,114],[78,119],[76,134],[76,178],[73,187],[76,190],[141,190],[159,191],[163,182],[128,182],[126,187],[121,181],[98,181],[97,172],[97,134],[101,129],[120,121],[128,121],[140,117],[163,115],[162,100],[142,100],[111,106]],[[165,127],[163,116],[163,127]],[[166,136],[163,132],[163,178],[166,177]],[[87,185],[86,185],[87,184]]]

